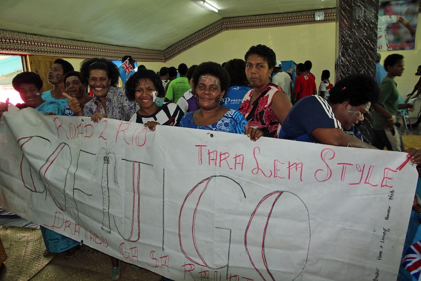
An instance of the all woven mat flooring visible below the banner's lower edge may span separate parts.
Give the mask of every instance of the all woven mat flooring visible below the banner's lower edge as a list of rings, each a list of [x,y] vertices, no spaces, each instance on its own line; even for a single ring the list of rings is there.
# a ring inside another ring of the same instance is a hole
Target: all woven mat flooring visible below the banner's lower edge
[[[8,255],[0,281],[110,280],[110,258],[88,246],[83,245],[78,255],[70,259],[65,259],[65,252],[44,257],[40,229],[0,226],[0,237]],[[161,281],[159,275],[146,269],[134,269],[125,262],[120,266],[120,281]]]

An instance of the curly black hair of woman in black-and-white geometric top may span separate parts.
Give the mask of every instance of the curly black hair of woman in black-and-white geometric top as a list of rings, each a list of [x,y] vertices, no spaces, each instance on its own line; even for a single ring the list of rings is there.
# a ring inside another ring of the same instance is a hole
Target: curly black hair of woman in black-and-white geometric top
[[[135,100],[134,94],[136,92],[136,87],[139,86],[139,80],[141,79],[149,79],[152,81],[156,88],[156,95],[158,97],[163,98],[165,96],[165,89],[164,86],[162,86],[161,78],[158,74],[150,69],[141,69],[136,71],[136,73],[130,76],[126,81],[126,97],[129,100]]]

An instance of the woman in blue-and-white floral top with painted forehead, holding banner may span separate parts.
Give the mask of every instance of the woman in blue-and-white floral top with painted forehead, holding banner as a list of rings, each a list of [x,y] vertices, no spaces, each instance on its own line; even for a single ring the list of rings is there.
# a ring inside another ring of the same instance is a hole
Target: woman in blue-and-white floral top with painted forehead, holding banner
[[[207,62],[196,67],[193,85],[199,109],[188,112],[180,122],[181,127],[247,134],[255,141],[263,133],[248,126],[244,116],[234,109],[221,106],[229,87],[230,75],[221,65]]]

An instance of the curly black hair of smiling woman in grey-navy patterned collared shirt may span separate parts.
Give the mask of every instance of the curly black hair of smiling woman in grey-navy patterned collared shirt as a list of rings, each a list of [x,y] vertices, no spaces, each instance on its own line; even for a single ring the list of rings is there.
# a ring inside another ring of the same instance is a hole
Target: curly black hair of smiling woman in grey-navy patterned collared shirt
[[[89,84],[89,74],[93,69],[102,69],[107,73],[108,79],[111,80],[111,86],[116,87],[120,73],[118,72],[117,65],[105,58],[93,58],[84,60],[81,64],[81,74],[83,77],[82,83]]]

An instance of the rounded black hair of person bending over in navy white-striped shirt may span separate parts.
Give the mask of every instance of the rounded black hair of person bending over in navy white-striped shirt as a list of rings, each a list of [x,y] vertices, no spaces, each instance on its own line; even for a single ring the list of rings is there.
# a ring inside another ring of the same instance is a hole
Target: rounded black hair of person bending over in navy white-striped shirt
[[[376,80],[367,74],[356,73],[339,80],[330,89],[328,98],[331,104],[348,102],[353,107],[375,104],[380,99],[380,88]]]

